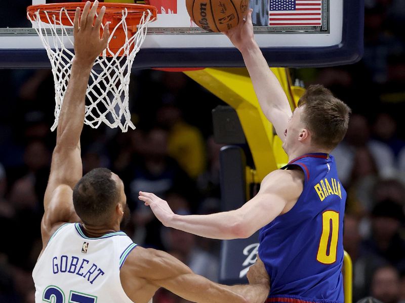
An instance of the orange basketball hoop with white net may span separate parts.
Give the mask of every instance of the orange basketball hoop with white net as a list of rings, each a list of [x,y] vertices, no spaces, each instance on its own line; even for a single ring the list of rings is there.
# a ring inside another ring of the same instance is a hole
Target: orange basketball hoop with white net
[[[106,7],[101,31],[109,23],[108,46],[96,59],[90,74],[86,95],[90,105],[86,106],[85,124],[93,128],[104,122],[111,128],[119,127],[123,132],[128,127],[135,129],[129,111],[129,83],[132,64],[146,37],[147,26],[156,19],[156,8],[139,4],[103,3]],[[82,11],[85,3],[59,3],[30,6],[27,17],[41,38],[51,61],[55,81],[55,122],[58,126],[60,109],[70,77],[74,58],[72,49],[76,8]],[[100,11],[97,9],[97,13]],[[97,15],[96,15],[97,17]]]

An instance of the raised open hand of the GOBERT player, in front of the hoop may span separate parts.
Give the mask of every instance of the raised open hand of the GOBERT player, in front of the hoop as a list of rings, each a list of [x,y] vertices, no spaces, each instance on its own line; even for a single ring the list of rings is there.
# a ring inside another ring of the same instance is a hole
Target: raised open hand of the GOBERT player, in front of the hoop
[[[102,7],[97,18],[98,1],[88,1],[80,16],[80,8],[76,8],[74,14],[74,53],[75,58],[86,63],[93,63],[107,47],[110,35],[108,23],[104,26],[103,35],[100,38],[101,22],[103,21],[105,7]]]

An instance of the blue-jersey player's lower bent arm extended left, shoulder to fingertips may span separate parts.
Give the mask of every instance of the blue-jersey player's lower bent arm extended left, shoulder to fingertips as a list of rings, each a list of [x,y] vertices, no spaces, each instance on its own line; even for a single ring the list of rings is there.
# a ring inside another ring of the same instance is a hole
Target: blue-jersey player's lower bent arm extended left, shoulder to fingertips
[[[241,208],[210,215],[176,215],[167,201],[153,193],[139,192],[165,226],[213,239],[248,238],[257,230],[288,211],[302,193],[301,170],[276,170],[263,179],[259,193]]]

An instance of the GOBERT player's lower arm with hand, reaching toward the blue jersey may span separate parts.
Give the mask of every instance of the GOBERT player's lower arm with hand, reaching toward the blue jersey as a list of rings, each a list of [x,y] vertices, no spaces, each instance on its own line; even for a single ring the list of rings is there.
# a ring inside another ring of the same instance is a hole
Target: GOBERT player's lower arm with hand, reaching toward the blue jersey
[[[136,247],[128,256],[121,269],[124,289],[130,285],[131,277],[147,280],[149,283],[164,287],[173,293],[193,302],[200,303],[262,303],[269,292],[269,280],[260,276],[249,285],[227,286],[214,283],[194,274],[189,267],[167,252]]]

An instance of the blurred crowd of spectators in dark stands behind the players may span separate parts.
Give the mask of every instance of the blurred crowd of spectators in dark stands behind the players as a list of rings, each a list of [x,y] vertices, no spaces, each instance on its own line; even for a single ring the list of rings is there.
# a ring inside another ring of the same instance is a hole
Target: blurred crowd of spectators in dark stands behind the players
[[[371,295],[405,302],[405,2],[366,0],[365,54],[353,65],[292,69],[329,87],[353,110],[333,151],[348,192],[344,248],[353,261],[353,301]],[[31,271],[55,133],[49,70],[0,70],[0,302],[33,302]],[[217,240],[163,227],[137,199],[151,191],[178,214],[220,210],[219,150],[211,111],[221,100],[183,73],[134,72],[135,131],[85,126],[84,173],[108,167],[125,183],[132,217],[123,229],[145,247],[164,249],[196,273],[218,280]],[[158,303],[186,302],[159,290]]]

